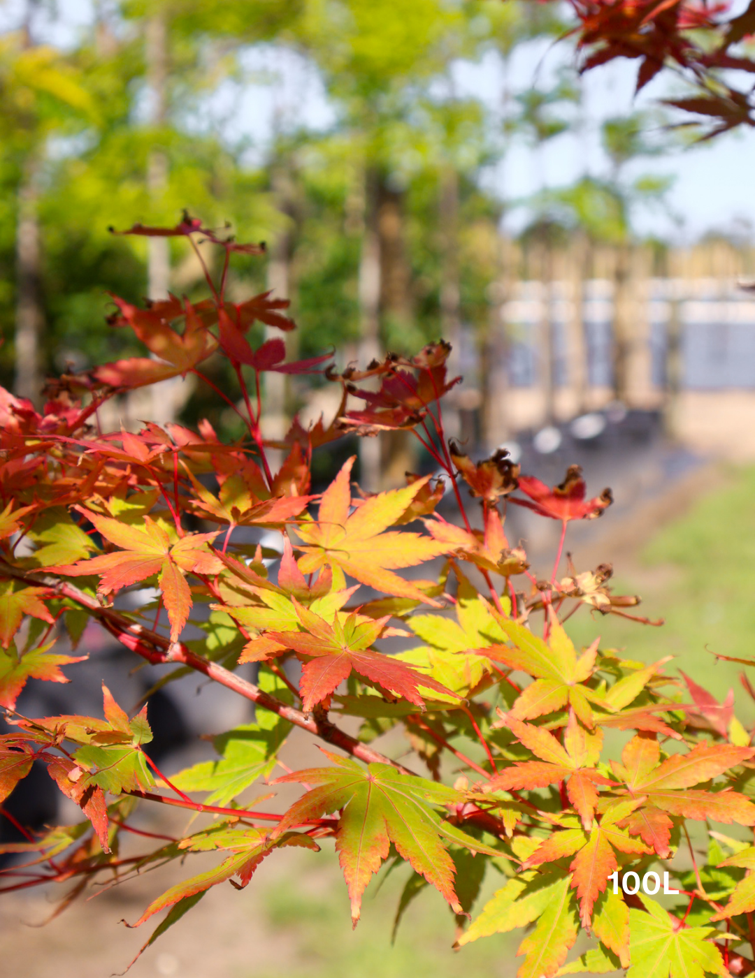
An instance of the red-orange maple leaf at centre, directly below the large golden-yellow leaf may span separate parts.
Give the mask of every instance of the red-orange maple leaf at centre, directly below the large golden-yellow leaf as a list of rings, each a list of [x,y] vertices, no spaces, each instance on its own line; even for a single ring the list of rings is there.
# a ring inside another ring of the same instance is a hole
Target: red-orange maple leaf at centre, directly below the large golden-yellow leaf
[[[339,616],[329,624],[324,618],[292,598],[301,630],[298,632],[265,633],[265,638],[290,648],[305,660],[300,689],[303,709],[311,711],[316,703],[326,699],[352,671],[381,689],[393,692],[424,709],[419,687],[453,695],[429,676],[416,672],[390,655],[370,648],[385,629],[390,615],[377,621],[350,614],[343,622]]]

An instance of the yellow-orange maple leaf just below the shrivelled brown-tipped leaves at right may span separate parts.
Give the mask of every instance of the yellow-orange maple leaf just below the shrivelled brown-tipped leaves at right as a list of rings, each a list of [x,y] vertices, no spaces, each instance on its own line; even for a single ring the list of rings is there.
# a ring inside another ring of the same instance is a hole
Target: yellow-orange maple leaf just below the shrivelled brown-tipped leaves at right
[[[530,720],[560,710],[568,703],[586,727],[594,727],[589,700],[600,702],[601,697],[584,683],[594,668],[597,642],[590,645],[578,659],[571,639],[552,612],[547,645],[524,625],[504,617],[495,609],[494,614],[495,620],[513,643],[513,648],[489,645],[478,649],[478,654],[535,677],[535,682],[517,698],[509,716],[517,720]]]

